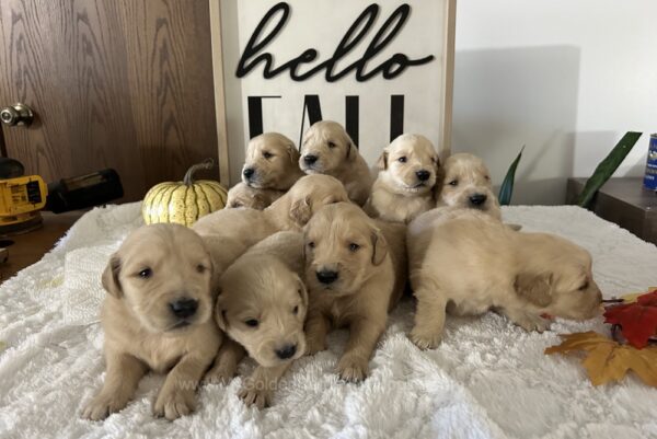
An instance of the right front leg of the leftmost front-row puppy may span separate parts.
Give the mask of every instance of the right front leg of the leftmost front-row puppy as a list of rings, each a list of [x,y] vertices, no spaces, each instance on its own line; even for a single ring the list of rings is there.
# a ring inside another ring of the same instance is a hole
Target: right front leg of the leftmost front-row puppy
[[[187,354],[169,372],[153,406],[155,416],[173,420],[196,408],[196,388],[212,357],[200,353]]]

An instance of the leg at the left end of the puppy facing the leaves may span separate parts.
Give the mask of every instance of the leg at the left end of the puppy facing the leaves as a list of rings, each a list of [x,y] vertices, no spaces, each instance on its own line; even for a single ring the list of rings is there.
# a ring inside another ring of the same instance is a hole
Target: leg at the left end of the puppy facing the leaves
[[[417,309],[415,326],[411,331],[411,342],[420,349],[433,349],[440,344],[447,299],[440,291],[419,287],[415,290]]]

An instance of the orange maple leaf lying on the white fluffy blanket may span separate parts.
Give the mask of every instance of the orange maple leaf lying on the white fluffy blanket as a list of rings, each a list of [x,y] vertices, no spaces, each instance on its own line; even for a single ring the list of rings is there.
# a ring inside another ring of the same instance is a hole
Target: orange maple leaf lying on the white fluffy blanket
[[[581,359],[593,385],[621,381],[632,370],[646,384],[657,388],[657,348],[636,349],[621,345],[606,336],[589,331],[561,334],[561,345],[545,349],[545,354],[572,354],[584,350]]]

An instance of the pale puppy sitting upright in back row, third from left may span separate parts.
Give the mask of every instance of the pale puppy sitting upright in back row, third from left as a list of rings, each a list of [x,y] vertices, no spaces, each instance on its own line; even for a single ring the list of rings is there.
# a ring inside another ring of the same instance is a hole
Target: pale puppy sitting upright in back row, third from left
[[[436,206],[434,186],[440,177],[440,161],[429,139],[401,135],[377,164],[379,175],[365,207],[370,217],[408,223]]]

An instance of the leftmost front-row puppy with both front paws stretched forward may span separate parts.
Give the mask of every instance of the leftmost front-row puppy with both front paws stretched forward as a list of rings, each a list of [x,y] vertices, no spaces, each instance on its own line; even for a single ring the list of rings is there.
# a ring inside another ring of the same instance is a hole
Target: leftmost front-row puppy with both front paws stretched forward
[[[201,239],[183,226],[145,226],[128,235],[102,277],[107,373],[83,417],[124,408],[148,370],[166,373],[157,416],[194,411],[197,383],[222,340],[212,321],[211,274]]]

